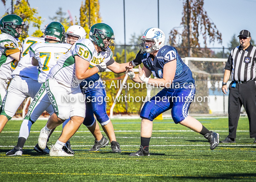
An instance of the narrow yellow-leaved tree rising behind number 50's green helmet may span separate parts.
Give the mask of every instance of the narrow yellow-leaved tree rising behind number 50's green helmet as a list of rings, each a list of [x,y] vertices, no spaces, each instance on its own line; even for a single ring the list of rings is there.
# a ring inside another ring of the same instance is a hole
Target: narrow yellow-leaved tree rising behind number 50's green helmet
[[[87,33],[86,38],[89,37],[91,26],[100,22],[100,3],[98,0],[85,0],[84,4],[82,2],[80,7],[80,25]]]

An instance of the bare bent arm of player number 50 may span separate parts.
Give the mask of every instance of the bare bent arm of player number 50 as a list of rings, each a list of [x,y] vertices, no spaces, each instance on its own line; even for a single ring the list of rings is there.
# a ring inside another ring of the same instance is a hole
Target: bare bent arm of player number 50
[[[91,69],[89,69],[90,62],[84,60],[80,56],[75,56],[76,61],[76,78],[77,79],[85,79],[89,76],[94,75],[95,73],[98,73],[98,68],[95,66]]]

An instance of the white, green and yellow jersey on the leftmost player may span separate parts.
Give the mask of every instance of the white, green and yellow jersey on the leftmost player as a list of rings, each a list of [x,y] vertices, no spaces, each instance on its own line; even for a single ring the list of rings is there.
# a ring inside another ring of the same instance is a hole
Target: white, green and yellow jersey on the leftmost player
[[[19,61],[9,55],[17,53],[17,49],[22,51],[22,43],[18,38],[6,33],[0,34],[0,78],[4,80],[11,78],[11,72]]]

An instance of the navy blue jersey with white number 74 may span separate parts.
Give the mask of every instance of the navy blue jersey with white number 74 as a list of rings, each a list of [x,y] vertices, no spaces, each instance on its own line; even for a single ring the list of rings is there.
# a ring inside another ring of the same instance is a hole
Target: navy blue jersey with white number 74
[[[172,46],[163,46],[161,49],[159,49],[155,58],[153,55],[150,55],[150,53],[141,54],[140,52],[135,58],[137,62],[142,62],[143,65],[157,78],[163,78],[163,66],[175,59],[177,60],[176,73],[173,84],[170,88],[182,88],[184,86],[195,84],[191,70],[182,61],[177,50]]]

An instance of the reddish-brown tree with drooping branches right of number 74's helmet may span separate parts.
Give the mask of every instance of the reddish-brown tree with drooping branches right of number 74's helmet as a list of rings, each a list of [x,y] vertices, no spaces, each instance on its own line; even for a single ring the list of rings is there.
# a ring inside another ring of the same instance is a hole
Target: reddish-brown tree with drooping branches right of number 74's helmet
[[[211,43],[215,40],[219,43],[222,42],[221,33],[203,6],[204,0],[184,0],[183,17],[180,24],[183,30],[180,33],[175,27],[169,34],[169,44],[174,47],[182,47],[182,49],[178,49],[182,57],[188,56],[188,52],[191,57],[211,57],[212,52],[207,49],[207,42]],[[200,35],[203,37],[204,49],[201,49],[199,43]],[[196,48],[191,49],[190,47]]]

